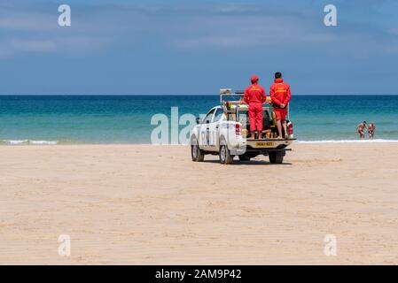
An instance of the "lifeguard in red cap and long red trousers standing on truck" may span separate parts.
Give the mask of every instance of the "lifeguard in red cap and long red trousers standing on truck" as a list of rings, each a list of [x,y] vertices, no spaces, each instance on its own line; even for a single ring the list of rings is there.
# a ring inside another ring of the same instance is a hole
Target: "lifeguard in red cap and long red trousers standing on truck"
[[[255,138],[255,133],[258,131],[259,139],[262,138],[262,103],[265,103],[267,94],[264,88],[259,84],[259,78],[253,76],[251,78],[252,85],[245,90],[243,100],[249,105],[249,120],[251,137]]]

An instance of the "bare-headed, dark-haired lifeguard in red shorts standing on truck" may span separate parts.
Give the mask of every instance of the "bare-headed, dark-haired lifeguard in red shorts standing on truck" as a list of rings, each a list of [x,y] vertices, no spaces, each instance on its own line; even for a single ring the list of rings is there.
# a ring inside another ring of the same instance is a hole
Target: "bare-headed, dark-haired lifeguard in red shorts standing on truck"
[[[274,108],[274,113],[277,119],[277,132],[278,139],[283,138],[282,126],[285,131],[285,138],[287,139],[287,125],[286,125],[286,114],[287,105],[292,97],[290,92],[290,86],[285,83],[282,79],[282,73],[275,73],[274,83],[269,89],[269,96],[271,96],[272,106]]]

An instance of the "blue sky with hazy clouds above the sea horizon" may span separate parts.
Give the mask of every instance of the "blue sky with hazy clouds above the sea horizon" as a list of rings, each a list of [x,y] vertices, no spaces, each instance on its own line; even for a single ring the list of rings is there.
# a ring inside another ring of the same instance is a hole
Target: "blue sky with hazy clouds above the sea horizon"
[[[394,0],[0,0],[0,95],[215,95],[252,74],[267,89],[276,71],[297,95],[398,94],[397,13]]]

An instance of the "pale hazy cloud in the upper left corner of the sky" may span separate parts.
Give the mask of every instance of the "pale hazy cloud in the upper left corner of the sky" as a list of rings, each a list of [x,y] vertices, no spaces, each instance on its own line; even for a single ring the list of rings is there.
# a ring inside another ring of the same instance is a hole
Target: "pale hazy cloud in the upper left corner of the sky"
[[[90,13],[95,16],[96,13]],[[26,54],[82,56],[105,50],[112,42],[98,22],[76,17],[72,27],[59,27],[58,5],[2,3],[0,10],[0,58]],[[87,22],[87,23],[86,23]]]

